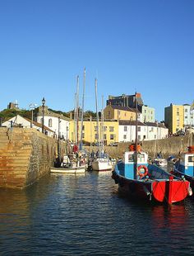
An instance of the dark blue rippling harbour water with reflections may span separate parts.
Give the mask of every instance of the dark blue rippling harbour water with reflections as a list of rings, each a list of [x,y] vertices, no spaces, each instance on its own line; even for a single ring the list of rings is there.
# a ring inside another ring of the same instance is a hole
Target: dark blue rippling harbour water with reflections
[[[0,255],[193,255],[194,200],[120,197],[111,172],[50,174],[0,190]]]

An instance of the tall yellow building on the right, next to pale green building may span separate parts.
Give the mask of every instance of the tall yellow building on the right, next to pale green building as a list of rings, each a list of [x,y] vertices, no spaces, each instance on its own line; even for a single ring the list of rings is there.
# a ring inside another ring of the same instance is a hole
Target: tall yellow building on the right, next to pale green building
[[[169,128],[169,132],[176,133],[183,130],[184,125],[184,107],[182,105],[170,104],[164,108],[164,123]]]

